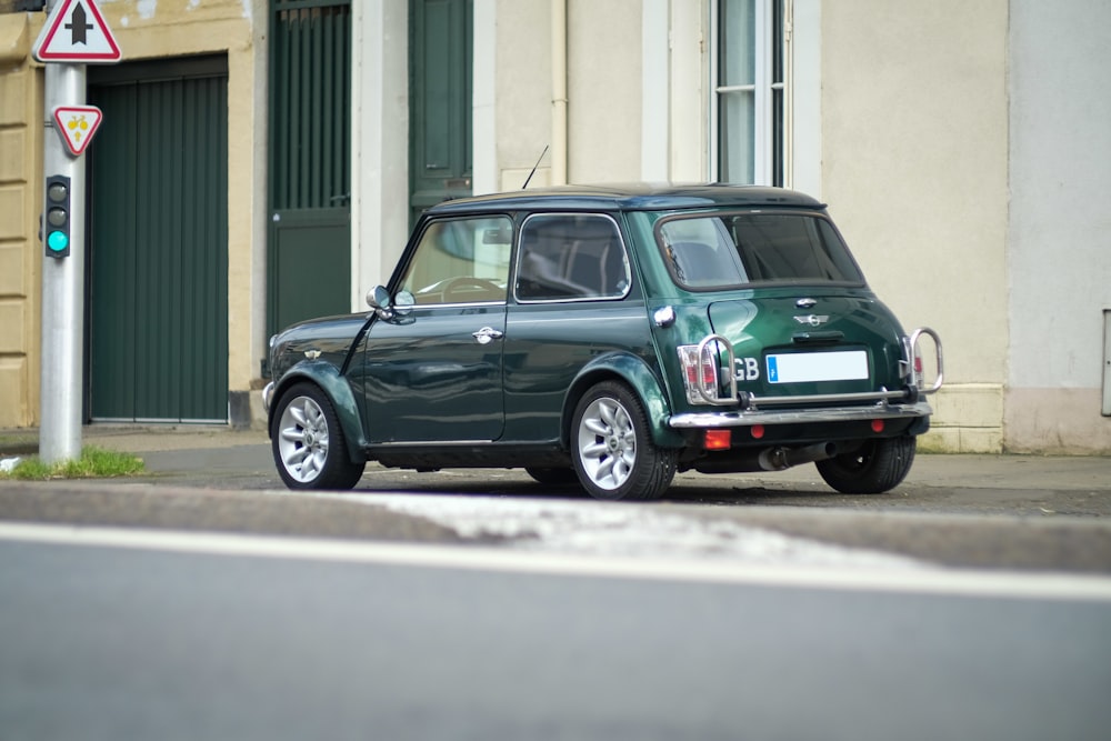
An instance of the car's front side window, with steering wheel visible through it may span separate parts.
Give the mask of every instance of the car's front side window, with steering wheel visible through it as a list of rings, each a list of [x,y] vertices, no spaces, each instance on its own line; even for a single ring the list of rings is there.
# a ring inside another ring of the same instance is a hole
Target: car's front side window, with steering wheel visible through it
[[[509,217],[431,221],[400,290],[412,293],[418,306],[504,301],[512,241]]]

